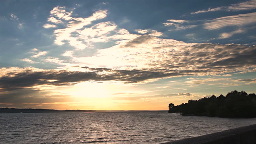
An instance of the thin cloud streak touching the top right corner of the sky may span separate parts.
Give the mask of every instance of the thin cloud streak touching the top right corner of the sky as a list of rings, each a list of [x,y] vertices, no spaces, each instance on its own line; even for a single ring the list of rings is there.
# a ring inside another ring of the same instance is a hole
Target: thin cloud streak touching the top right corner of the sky
[[[217,8],[209,8],[207,10],[200,10],[197,12],[191,12],[191,14],[205,13],[205,12],[215,12],[215,11],[244,11],[256,9],[256,0],[249,0],[237,4],[232,4],[231,6],[223,6]]]

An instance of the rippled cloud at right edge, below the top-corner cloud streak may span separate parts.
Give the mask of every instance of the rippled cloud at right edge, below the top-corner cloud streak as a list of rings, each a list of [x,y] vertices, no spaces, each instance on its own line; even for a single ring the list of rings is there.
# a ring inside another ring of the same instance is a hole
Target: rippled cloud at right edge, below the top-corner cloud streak
[[[224,16],[213,19],[204,24],[205,29],[215,30],[226,26],[243,26],[256,23],[256,12]]]

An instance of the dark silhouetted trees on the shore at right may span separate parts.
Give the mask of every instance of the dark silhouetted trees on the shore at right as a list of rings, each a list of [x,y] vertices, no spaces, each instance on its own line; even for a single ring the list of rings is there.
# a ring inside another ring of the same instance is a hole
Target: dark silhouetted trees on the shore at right
[[[245,91],[232,91],[226,96],[204,97],[199,100],[189,100],[178,106],[169,104],[169,113],[182,115],[226,117],[226,118],[255,118],[256,95]]]

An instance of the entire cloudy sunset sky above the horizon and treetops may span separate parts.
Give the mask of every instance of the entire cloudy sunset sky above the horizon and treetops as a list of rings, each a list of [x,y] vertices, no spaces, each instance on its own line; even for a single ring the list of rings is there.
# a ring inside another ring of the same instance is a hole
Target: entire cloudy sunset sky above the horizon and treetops
[[[256,93],[256,0],[1,0],[0,107],[165,110]]]

